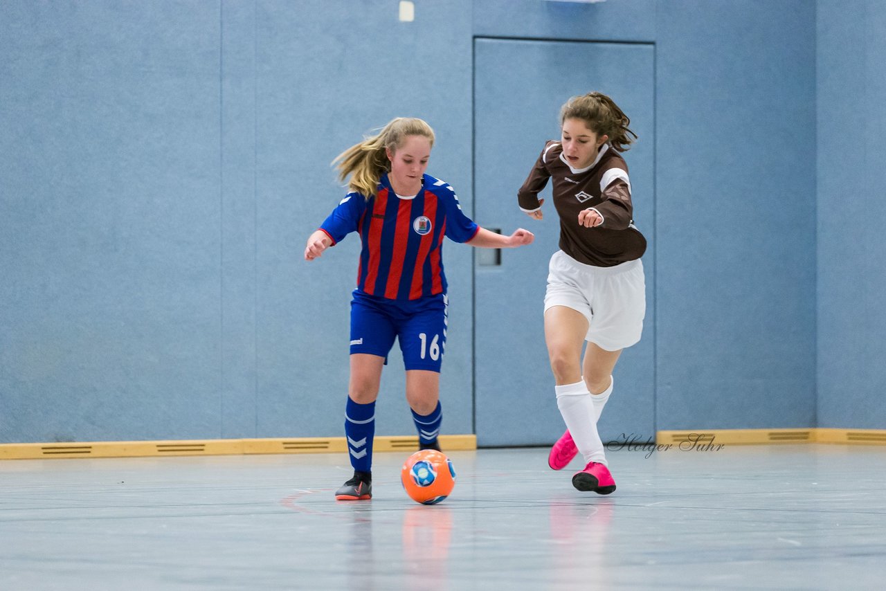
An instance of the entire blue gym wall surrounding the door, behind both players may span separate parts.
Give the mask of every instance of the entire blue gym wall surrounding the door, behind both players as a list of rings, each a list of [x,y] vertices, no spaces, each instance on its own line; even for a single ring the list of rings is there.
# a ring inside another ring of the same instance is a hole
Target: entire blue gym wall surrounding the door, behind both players
[[[340,436],[358,240],[301,259],[329,162],[422,116],[471,211],[474,35],[655,43],[657,429],[886,428],[881,4],[397,4],[0,4],[0,442]],[[466,433],[472,257],[445,252]],[[377,433],[413,432],[402,391],[395,349]]]

